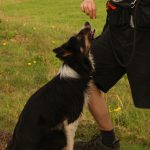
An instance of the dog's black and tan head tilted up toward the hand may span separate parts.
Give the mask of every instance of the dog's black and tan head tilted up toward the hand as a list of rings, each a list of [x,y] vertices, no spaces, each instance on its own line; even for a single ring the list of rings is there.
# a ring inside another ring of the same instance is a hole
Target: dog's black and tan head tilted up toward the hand
[[[62,46],[54,49],[56,57],[63,61],[79,56],[88,57],[94,33],[95,30],[92,31],[90,23],[86,22],[83,29],[78,34],[72,36]]]

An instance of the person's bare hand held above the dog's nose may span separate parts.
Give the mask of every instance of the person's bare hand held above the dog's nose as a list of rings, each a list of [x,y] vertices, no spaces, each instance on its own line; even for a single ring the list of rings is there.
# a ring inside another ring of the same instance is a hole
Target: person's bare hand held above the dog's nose
[[[95,0],[84,0],[81,3],[81,10],[90,18],[96,19],[96,3]]]

